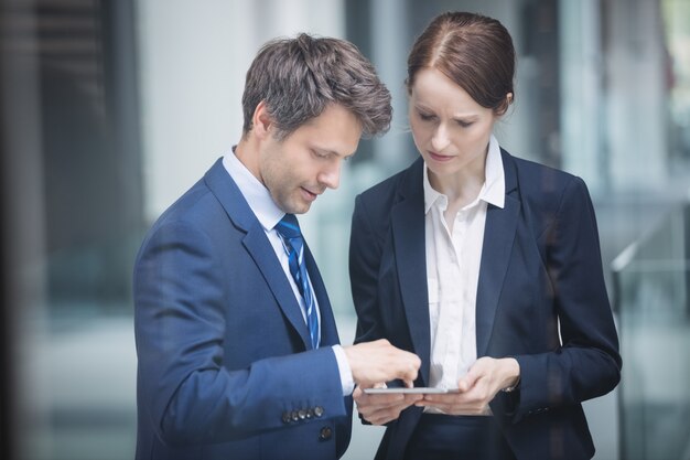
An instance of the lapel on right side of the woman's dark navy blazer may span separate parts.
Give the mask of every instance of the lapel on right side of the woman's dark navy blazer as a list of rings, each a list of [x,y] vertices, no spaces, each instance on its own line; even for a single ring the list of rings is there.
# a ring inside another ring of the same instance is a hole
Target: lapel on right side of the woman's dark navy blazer
[[[489,205],[486,211],[476,303],[478,357],[484,356],[488,349],[521,207],[517,196],[515,165],[508,153],[503,150],[502,153],[506,178],[506,201],[503,210]]]

